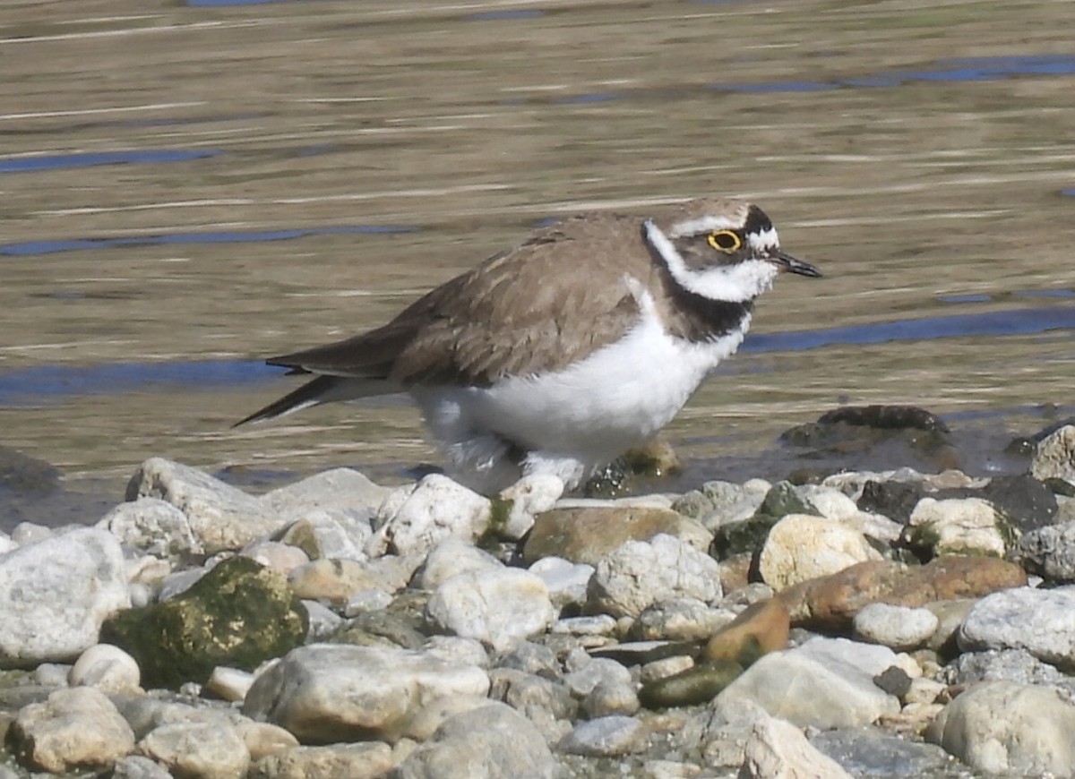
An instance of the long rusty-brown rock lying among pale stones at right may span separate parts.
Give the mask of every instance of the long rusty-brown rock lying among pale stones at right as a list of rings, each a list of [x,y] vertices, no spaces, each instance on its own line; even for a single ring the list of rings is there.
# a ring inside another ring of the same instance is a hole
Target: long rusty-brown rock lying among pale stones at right
[[[859,609],[871,603],[918,607],[934,601],[980,597],[1026,583],[1022,568],[995,558],[949,556],[909,567],[871,560],[796,585],[778,597],[793,625],[843,632],[850,630]]]

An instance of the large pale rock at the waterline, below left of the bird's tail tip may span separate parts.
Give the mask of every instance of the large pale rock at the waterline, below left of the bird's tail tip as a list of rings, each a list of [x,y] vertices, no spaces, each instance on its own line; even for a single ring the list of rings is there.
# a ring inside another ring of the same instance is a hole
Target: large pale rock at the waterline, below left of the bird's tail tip
[[[283,525],[281,517],[257,497],[163,458],[146,460],[131,478],[127,500],[140,497],[159,497],[183,511],[206,554],[241,549]]]

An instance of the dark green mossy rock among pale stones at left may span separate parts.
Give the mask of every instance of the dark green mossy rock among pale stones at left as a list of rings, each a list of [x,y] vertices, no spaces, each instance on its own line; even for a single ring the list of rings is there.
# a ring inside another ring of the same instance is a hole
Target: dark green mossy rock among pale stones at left
[[[301,646],[309,617],[287,578],[249,558],[217,565],[182,595],[121,611],[101,640],[127,650],[145,687],[204,683],[218,665],[253,670]]]

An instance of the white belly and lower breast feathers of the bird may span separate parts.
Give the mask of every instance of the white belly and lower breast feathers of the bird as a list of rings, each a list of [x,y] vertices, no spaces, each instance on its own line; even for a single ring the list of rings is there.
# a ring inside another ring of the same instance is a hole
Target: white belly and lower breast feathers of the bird
[[[557,373],[414,396],[457,465],[493,468],[514,445],[531,460],[568,462],[550,470],[574,481],[589,475],[575,471],[604,465],[668,424],[745,332],[691,344],[647,316],[621,341]]]

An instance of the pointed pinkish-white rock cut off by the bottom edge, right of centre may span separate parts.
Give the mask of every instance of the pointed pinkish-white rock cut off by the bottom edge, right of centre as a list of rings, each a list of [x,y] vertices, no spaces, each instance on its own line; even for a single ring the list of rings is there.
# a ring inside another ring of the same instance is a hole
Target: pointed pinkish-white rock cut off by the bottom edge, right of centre
[[[744,749],[740,779],[851,779],[821,754],[790,722],[766,717],[756,722]]]

